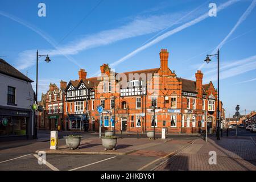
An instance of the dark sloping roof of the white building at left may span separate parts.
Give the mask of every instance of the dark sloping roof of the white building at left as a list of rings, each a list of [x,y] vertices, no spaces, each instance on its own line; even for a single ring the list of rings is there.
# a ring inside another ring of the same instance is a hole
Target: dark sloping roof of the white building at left
[[[19,78],[20,80],[34,82],[3,59],[0,59],[0,73],[11,77]]]

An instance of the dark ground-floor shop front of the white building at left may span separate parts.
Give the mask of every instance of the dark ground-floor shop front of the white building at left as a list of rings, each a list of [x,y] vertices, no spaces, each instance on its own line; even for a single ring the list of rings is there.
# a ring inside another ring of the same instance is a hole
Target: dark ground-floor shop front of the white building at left
[[[0,107],[0,140],[32,138],[32,111],[15,107]]]

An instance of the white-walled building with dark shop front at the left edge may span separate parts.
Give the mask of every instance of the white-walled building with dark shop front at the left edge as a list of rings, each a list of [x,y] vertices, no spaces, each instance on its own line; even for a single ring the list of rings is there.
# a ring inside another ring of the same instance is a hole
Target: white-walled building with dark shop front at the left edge
[[[0,59],[0,140],[32,139],[34,90],[30,78]]]

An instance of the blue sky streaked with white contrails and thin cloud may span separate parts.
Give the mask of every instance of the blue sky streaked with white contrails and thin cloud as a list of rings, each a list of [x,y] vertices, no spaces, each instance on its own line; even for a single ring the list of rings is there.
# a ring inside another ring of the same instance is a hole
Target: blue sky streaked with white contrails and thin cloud
[[[46,4],[46,17],[38,4]],[[208,16],[209,3],[217,16]],[[39,63],[39,92],[49,82],[97,75],[109,63],[116,72],[158,68],[159,52],[170,52],[169,68],[195,80],[197,69],[217,87],[217,60],[202,64],[220,47],[220,98],[227,116],[256,109],[256,10],[252,0],[219,1],[1,1],[0,56],[35,80],[36,49],[51,57]],[[4,57],[5,56],[5,57]],[[114,64],[113,64],[114,63]]]

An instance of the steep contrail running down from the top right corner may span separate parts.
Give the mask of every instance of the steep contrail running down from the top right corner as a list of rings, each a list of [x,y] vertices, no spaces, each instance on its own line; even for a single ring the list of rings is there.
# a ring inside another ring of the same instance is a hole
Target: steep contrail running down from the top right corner
[[[214,54],[217,52],[217,49],[220,49],[226,42],[226,40],[228,40],[228,38],[233,34],[233,32],[237,29],[238,26],[240,26],[240,24],[247,18],[247,16],[251,13],[251,11],[254,9],[256,5],[256,0],[254,0],[253,2],[251,2],[250,6],[245,10],[245,13],[242,14],[242,16],[240,17],[240,19],[238,19],[237,23],[235,24],[235,26],[232,28],[232,30],[229,32],[229,34],[221,41],[220,44],[218,44],[218,46],[212,51],[212,53],[210,54]],[[202,69],[204,67],[205,63],[203,63],[201,65],[201,67],[199,67],[199,70]]]

